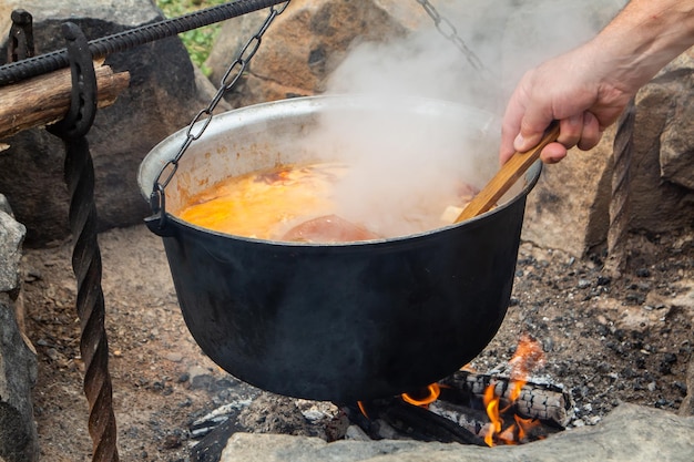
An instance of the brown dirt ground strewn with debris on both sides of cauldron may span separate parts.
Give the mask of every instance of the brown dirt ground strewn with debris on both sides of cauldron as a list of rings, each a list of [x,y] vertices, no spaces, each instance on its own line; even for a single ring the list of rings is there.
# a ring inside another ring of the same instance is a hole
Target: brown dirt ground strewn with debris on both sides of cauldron
[[[185,461],[191,422],[237,382],[190,336],[160,238],[137,226],[100,244],[120,458]],[[573,425],[598,423],[621,401],[676,411],[694,342],[694,234],[636,236],[629,247],[631,269],[610,278],[598,257],[523,244],[508,316],[472,367],[493,371],[529,333],[543,346],[543,376],[573,394]],[[25,249],[23,261],[41,460],[55,462],[91,460],[70,253],[60,243]]]

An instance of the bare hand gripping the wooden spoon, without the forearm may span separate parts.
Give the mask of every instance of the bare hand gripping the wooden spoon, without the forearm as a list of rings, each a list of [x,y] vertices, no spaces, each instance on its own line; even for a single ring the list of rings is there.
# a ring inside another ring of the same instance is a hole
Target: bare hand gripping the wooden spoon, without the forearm
[[[554,120],[560,134],[542,150],[543,162],[561,161],[573,146],[594,147],[635,93],[615,81],[618,70],[618,61],[604,58],[589,42],[527,72],[503,117],[500,162],[535,146]]]

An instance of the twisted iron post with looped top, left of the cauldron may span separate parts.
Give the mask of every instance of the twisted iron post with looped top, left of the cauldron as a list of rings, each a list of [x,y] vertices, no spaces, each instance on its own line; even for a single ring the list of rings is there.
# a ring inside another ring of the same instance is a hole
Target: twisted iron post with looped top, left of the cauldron
[[[70,193],[72,269],[78,283],[83,390],[89,402],[89,433],[94,462],[118,462],[113,391],[109,373],[101,251],[96,235],[94,165],[86,134],[96,114],[96,75],[86,38],[74,23],[63,25],[72,73],[72,101],[65,119],[48,127],[65,145],[65,183]]]

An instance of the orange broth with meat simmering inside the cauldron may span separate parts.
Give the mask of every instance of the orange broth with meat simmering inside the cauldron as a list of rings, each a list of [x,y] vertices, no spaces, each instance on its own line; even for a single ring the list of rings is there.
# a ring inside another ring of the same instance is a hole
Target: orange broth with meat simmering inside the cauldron
[[[215,232],[269,240],[330,243],[396,237],[384,233],[377,219],[367,225],[340,216],[336,184],[348,173],[349,166],[343,163],[252,172],[193,195],[176,215]],[[418,208],[429,209],[416,209],[417,218],[402,219],[418,232],[451,224],[474,193],[469,185],[461,185],[452,203],[418,203]]]

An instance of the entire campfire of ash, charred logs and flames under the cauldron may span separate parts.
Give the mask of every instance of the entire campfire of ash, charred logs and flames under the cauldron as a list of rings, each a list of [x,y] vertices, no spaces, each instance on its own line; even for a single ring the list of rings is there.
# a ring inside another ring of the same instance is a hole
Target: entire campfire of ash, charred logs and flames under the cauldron
[[[387,439],[478,446],[524,444],[562,431],[573,419],[571,394],[539,378],[542,363],[539,342],[523,337],[503,373],[463,368],[420,390],[351,404],[262,393],[251,404],[243,400],[225,404],[194,422],[191,432],[202,439],[196,445],[201,454],[235,432],[257,432],[256,425],[263,432],[320,434],[328,442]]]

